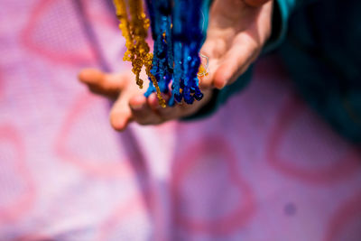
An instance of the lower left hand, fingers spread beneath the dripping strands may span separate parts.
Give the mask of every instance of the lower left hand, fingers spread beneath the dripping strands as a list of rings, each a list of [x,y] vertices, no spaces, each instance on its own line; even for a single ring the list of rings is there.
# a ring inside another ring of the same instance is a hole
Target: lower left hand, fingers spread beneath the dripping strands
[[[135,84],[134,74],[131,71],[106,74],[98,70],[82,70],[79,73],[79,80],[93,93],[116,100],[110,112],[110,123],[118,131],[125,130],[132,121],[141,125],[158,125],[172,119],[190,116],[208,103],[211,96],[211,90],[203,89],[203,99],[195,101],[193,105],[177,104],[175,107],[162,108],[154,93],[148,99],[143,96],[144,90],[139,89]]]

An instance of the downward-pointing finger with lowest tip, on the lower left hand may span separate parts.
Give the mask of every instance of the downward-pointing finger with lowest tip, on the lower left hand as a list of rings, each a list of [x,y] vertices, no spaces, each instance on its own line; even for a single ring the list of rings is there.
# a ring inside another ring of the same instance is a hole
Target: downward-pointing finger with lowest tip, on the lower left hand
[[[127,100],[126,96],[120,96],[110,111],[110,124],[116,131],[124,131],[133,120],[132,111],[128,106]]]

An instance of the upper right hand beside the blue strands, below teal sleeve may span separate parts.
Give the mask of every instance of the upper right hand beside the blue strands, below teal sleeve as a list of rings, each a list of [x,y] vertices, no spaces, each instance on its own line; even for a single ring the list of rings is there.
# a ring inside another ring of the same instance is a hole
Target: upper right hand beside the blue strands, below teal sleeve
[[[207,40],[201,52],[209,57],[203,88],[224,88],[248,69],[271,35],[273,1],[215,0]]]

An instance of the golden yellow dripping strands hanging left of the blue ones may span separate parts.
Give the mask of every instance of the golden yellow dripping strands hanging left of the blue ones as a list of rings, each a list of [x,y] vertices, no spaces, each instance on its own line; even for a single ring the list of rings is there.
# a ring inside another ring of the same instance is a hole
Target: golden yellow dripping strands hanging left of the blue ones
[[[123,60],[132,62],[132,71],[135,74],[136,84],[139,88],[143,88],[143,79],[140,79],[139,75],[143,66],[145,67],[145,72],[148,77],[152,79],[153,85],[157,91],[159,104],[162,107],[166,107],[158,82],[151,73],[153,54],[150,53],[149,45],[145,41],[150,21],[143,13],[142,1],[114,0],[114,5],[116,6],[116,16],[120,22],[119,28],[125,37],[126,51]],[[130,19],[128,17],[128,12],[131,16]]]

